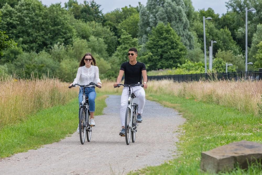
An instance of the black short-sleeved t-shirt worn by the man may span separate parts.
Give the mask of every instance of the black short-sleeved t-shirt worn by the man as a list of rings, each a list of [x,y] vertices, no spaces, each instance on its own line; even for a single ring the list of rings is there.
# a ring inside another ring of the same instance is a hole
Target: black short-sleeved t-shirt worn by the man
[[[124,62],[120,70],[125,71],[124,84],[137,84],[138,82],[142,84],[142,71],[146,70],[146,65],[141,62],[137,62],[135,65]]]

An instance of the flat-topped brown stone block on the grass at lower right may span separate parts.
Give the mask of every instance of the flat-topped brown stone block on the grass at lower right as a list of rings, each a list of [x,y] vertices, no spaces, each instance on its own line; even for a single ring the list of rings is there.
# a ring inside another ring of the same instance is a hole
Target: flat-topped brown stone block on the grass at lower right
[[[252,162],[261,163],[262,144],[250,141],[233,142],[201,153],[201,169],[210,173],[247,168]]]

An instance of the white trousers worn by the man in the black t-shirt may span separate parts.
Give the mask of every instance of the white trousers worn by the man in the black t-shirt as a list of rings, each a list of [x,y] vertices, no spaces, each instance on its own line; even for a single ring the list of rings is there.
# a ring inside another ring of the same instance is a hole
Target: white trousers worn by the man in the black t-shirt
[[[121,95],[120,119],[121,126],[125,126],[125,112],[128,106],[128,87],[124,87]],[[142,114],[145,106],[145,90],[141,86],[131,88],[131,94],[134,93],[138,98],[138,113]]]

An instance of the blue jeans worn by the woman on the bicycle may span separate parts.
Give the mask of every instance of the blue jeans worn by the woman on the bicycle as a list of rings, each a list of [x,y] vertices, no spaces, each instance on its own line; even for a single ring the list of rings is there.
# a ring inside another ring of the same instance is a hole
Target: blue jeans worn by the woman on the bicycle
[[[82,103],[83,101],[83,92],[84,92],[83,87],[80,87],[79,94],[78,94],[79,103]],[[85,87],[85,96],[88,97],[89,111],[95,112],[95,98],[96,98],[95,87]]]

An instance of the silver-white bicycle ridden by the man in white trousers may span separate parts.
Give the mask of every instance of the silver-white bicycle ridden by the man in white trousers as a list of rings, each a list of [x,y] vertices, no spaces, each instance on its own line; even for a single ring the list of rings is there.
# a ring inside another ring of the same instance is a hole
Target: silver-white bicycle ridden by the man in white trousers
[[[118,84],[116,87],[128,87],[128,106],[125,112],[125,142],[127,145],[130,144],[130,137],[132,138],[132,142],[135,142],[135,135],[137,132],[137,111],[138,104],[134,103],[133,100],[136,98],[135,94],[131,94],[131,88],[135,86],[144,87],[143,84]],[[114,87],[114,88],[116,88]]]

